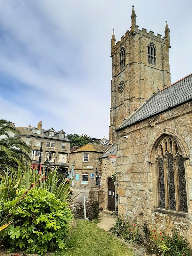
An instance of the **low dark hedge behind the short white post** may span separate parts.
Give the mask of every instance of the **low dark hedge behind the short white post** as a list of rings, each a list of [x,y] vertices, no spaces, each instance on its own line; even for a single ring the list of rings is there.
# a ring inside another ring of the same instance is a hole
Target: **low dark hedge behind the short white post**
[[[96,200],[85,201],[86,218],[89,220],[96,219],[99,216],[99,202]],[[74,202],[69,206],[74,213],[74,217],[84,219],[84,202]]]

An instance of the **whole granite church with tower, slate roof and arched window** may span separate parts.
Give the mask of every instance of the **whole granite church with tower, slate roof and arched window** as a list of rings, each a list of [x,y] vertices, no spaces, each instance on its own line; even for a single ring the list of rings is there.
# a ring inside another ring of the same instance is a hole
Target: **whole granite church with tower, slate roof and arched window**
[[[116,171],[119,215],[169,234],[178,228],[192,244],[192,74],[170,85],[167,22],[162,37],[138,28],[134,7],[131,21],[120,41],[114,31],[111,39],[109,141],[116,142],[116,168],[105,160],[105,208]]]

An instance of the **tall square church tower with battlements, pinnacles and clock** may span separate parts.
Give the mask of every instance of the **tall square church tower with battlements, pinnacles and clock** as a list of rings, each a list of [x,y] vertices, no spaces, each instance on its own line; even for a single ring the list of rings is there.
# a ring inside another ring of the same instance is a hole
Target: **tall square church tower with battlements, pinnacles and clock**
[[[116,43],[115,32],[111,38],[112,80],[109,143],[116,141],[115,129],[123,123],[157,88],[171,84],[169,70],[169,28],[165,36],[141,30],[136,25],[132,6],[131,30],[127,30]]]

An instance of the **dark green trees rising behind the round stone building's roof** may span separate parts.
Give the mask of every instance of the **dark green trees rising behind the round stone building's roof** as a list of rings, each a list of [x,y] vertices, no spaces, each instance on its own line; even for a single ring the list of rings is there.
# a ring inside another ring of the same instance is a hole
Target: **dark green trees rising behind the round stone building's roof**
[[[83,147],[89,142],[99,144],[99,140],[100,140],[100,139],[91,138],[88,133],[85,135],[83,134],[78,135],[77,133],[75,133],[75,134],[68,134],[66,136],[68,137],[69,140],[71,140],[71,147],[73,146]]]

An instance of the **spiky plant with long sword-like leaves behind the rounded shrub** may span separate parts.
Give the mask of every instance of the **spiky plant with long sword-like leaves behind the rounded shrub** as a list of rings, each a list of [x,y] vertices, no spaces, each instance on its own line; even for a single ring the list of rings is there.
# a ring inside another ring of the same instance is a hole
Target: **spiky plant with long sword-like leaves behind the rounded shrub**
[[[47,179],[44,180],[44,178],[44,175],[39,175],[30,166],[24,171],[18,168],[18,172],[7,171],[0,173],[0,204],[14,199],[18,194],[18,190],[28,190],[28,188],[33,187],[47,189],[48,192],[55,195],[56,199],[60,199],[62,202],[70,201],[72,189],[70,184],[72,180],[68,183],[67,179],[63,178],[58,186],[57,168],[49,173]],[[41,182],[42,179],[44,182]],[[4,228],[14,221],[14,215],[9,213],[12,213],[16,207],[17,205],[13,205],[12,208],[5,208],[0,211],[0,244],[2,244]]]

